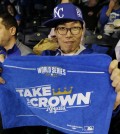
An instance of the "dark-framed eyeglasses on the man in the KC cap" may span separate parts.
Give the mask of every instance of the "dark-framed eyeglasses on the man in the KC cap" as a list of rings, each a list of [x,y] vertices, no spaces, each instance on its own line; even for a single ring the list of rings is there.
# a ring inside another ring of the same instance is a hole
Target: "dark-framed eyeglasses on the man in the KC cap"
[[[66,28],[66,27],[57,27],[56,30],[60,35],[66,35],[68,30],[71,32],[72,35],[77,35],[81,31],[81,27],[72,27],[72,28]]]

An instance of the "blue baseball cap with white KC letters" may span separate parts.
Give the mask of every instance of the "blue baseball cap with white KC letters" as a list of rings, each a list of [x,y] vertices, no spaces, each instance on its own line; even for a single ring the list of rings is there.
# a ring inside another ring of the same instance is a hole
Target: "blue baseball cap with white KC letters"
[[[55,27],[64,21],[83,22],[81,10],[72,3],[61,3],[54,8],[53,18],[44,22],[47,27]]]

